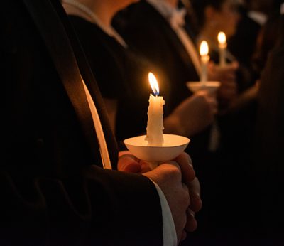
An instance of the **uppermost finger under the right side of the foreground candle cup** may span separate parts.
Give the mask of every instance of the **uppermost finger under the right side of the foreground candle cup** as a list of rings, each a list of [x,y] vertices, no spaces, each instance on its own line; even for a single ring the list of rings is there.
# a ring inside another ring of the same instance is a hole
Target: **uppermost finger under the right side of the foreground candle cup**
[[[180,166],[180,170],[182,172],[182,181],[188,185],[195,179],[195,170],[193,169],[190,155],[183,152],[175,158],[175,161],[178,162]]]

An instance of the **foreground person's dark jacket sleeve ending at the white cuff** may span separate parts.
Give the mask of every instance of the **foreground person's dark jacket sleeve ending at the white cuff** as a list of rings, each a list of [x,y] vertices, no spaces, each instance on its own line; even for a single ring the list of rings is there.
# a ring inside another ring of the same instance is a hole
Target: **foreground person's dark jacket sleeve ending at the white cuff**
[[[1,245],[163,245],[158,193],[141,175],[88,166],[17,184],[1,171],[0,191]]]

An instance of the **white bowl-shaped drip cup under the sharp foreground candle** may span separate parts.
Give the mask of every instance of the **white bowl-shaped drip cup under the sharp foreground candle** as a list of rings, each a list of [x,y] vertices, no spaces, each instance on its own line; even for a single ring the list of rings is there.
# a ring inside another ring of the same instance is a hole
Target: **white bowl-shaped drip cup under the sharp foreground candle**
[[[163,161],[170,161],[182,154],[190,139],[174,134],[163,134],[162,146],[149,146],[146,135],[131,137],[124,140],[126,148],[138,159],[147,161],[154,169]]]

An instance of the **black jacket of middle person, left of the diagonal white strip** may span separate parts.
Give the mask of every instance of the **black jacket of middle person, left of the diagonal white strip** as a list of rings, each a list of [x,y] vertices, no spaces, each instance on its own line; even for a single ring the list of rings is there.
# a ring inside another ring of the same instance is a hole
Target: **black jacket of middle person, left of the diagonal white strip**
[[[126,18],[127,24],[116,25],[116,18]],[[127,43],[157,65],[170,80],[168,104],[172,109],[192,94],[185,83],[199,78],[190,56],[168,21],[153,6],[146,1],[132,4],[114,18],[114,26]]]

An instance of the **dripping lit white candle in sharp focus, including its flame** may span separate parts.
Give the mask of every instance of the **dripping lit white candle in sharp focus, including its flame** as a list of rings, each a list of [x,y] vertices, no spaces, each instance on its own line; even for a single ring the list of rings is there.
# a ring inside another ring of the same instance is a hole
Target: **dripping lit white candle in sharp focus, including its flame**
[[[163,105],[165,101],[163,97],[158,97],[159,87],[153,73],[148,74],[149,82],[154,92],[153,96],[150,94],[148,107],[148,122],[146,140],[149,146],[163,145]]]

